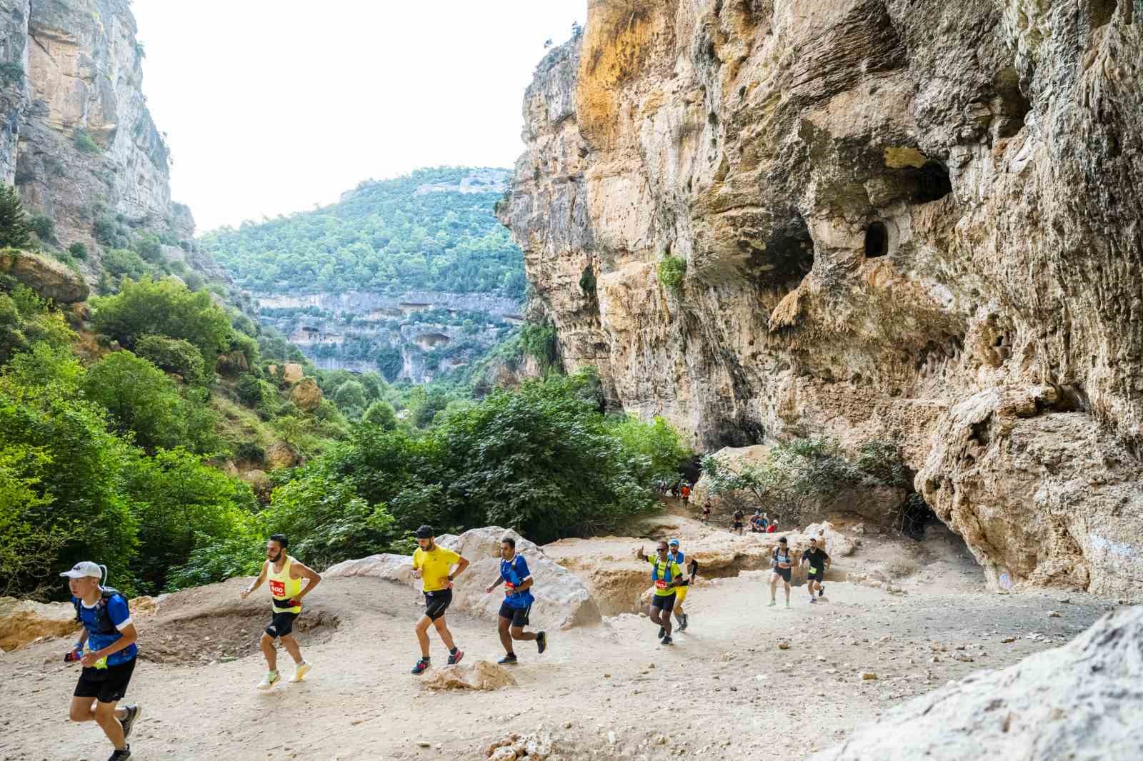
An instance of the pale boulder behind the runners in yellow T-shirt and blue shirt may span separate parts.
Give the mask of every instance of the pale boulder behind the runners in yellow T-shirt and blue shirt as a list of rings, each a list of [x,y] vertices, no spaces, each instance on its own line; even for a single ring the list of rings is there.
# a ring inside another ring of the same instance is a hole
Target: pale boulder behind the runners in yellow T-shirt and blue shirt
[[[528,562],[535,578],[531,620],[538,626],[568,628],[599,622],[599,608],[588,586],[566,568],[558,564],[531,542],[511,529],[495,526],[472,529],[461,536],[437,537],[442,547],[454,550],[469,559],[471,566],[453,590],[453,608],[475,616],[496,619],[504,600],[503,587],[491,594],[485,585],[499,572],[499,540],[503,536],[515,538],[517,552]],[[326,576],[373,576],[400,582],[419,588],[419,579],[410,572],[413,559],[408,555],[378,554],[361,560],[346,560],[326,570]]]

